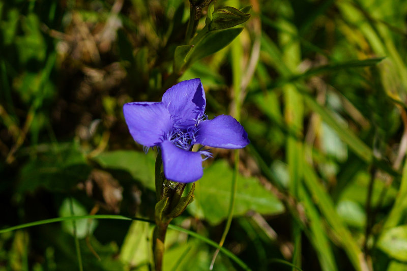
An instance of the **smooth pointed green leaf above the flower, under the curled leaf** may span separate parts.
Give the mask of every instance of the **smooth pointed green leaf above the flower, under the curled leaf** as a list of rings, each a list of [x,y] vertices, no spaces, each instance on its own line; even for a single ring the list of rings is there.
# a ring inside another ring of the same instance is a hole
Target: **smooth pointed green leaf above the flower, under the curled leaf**
[[[187,55],[187,65],[191,65],[202,57],[216,53],[234,40],[243,30],[243,27],[228,28],[210,31],[195,44]]]

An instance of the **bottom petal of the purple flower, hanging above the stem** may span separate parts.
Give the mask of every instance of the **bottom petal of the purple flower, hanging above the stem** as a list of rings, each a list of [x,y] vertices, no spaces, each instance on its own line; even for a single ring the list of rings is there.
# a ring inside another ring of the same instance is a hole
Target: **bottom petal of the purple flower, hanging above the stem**
[[[164,175],[180,183],[191,183],[203,175],[202,158],[197,152],[189,152],[165,140],[161,143]]]

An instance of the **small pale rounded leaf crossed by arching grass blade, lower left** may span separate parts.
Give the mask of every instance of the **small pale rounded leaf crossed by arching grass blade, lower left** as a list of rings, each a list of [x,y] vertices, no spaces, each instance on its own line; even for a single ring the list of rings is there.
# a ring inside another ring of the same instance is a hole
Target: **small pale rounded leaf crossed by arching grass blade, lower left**
[[[71,199],[66,198],[61,204],[59,214],[60,217],[72,217],[72,216],[85,216],[88,215],[89,212],[86,211],[85,207],[80,204],[79,201],[76,199],[72,199],[72,212],[71,212]],[[96,229],[98,222],[96,220],[88,220],[88,219],[79,219],[74,221],[62,221],[62,228],[74,235],[74,228],[76,229],[76,236],[79,239],[86,237],[88,234],[92,234],[92,232]],[[75,223],[75,226],[74,224]]]

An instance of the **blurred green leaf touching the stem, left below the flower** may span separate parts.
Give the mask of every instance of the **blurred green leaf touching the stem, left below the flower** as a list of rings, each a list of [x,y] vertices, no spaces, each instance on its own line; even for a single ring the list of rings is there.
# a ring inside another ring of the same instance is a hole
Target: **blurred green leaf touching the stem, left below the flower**
[[[104,168],[128,171],[134,179],[155,191],[155,158],[156,154],[153,152],[143,154],[135,150],[115,150],[101,153],[94,160]]]

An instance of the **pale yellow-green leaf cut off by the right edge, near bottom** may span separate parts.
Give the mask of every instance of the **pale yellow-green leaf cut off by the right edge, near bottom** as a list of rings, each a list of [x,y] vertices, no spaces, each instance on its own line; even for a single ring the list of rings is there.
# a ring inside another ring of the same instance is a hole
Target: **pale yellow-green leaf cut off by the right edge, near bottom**
[[[407,225],[385,231],[377,247],[396,260],[407,261]]]

